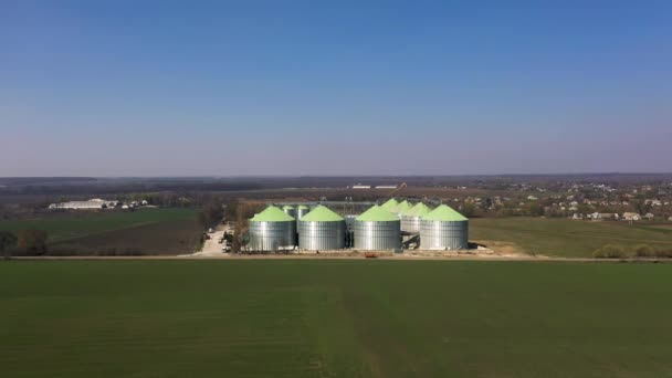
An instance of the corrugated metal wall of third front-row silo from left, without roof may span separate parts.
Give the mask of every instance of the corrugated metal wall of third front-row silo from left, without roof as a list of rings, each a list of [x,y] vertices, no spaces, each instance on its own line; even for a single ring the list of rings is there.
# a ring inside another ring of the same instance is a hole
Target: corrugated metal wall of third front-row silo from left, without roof
[[[393,250],[401,248],[401,222],[355,221],[355,249],[367,251]]]

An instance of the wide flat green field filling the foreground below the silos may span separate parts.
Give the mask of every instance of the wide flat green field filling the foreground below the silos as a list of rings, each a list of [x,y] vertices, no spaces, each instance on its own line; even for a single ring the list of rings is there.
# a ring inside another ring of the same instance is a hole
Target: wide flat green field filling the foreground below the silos
[[[6,377],[672,377],[672,264],[0,262]]]

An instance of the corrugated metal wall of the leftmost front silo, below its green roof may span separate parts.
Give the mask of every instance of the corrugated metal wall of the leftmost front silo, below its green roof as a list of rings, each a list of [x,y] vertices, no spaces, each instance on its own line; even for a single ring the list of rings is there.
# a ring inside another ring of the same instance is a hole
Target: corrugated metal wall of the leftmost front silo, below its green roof
[[[250,250],[277,251],[296,245],[296,222],[250,222]]]

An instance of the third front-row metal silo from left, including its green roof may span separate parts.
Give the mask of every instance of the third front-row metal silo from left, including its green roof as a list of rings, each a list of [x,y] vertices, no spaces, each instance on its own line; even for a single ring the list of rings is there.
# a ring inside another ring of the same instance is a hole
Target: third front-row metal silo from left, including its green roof
[[[374,206],[355,218],[354,234],[357,250],[395,250],[401,248],[400,221],[397,216]]]

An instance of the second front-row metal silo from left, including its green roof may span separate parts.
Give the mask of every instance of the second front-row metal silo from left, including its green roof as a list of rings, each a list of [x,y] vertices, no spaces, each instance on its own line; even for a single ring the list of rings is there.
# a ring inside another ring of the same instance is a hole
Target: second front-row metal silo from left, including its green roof
[[[344,249],[345,229],[343,217],[318,206],[298,220],[298,248],[311,251]]]

